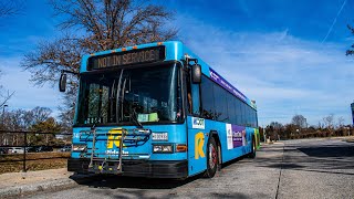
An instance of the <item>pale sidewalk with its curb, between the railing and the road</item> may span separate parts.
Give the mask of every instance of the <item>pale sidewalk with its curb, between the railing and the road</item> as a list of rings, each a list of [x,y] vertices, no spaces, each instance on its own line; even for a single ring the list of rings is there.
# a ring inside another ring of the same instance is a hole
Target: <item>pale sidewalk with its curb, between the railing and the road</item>
[[[73,176],[73,172],[67,171],[66,168],[2,174],[0,175],[0,198],[75,187],[77,186],[75,180],[83,180],[86,177]]]

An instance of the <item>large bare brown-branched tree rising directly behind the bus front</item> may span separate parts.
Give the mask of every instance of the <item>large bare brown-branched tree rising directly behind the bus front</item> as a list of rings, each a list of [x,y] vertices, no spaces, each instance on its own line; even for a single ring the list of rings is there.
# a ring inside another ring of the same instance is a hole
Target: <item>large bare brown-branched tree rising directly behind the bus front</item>
[[[77,73],[83,54],[147,42],[165,41],[177,35],[166,28],[174,13],[144,0],[51,0],[59,24],[65,32],[55,41],[39,43],[21,65],[38,84],[54,85],[61,70]],[[76,33],[80,32],[80,33]],[[71,75],[62,113],[73,116],[79,76]],[[64,116],[67,116],[65,114]],[[71,118],[72,119],[72,118]]]

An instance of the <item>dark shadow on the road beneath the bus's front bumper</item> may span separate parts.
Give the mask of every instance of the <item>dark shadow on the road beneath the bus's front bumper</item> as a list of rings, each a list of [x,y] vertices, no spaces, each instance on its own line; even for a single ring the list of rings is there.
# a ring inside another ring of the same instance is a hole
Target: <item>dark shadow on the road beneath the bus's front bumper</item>
[[[75,179],[74,176],[71,177],[79,185],[87,186],[91,188],[106,188],[106,189],[117,189],[117,188],[137,188],[137,189],[171,189],[191,181],[198,178],[202,178],[201,175],[190,177],[187,179],[160,179],[160,178],[139,178],[139,177],[125,177],[125,176],[92,176],[84,180]]]

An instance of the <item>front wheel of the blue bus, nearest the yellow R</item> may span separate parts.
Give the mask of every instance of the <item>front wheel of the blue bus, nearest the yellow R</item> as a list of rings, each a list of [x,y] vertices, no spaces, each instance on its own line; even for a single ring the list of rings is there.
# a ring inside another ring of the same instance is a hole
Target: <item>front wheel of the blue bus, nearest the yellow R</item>
[[[207,147],[208,147],[207,148],[207,170],[204,176],[207,178],[212,178],[217,172],[217,168],[219,164],[218,146],[214,137],[209,138]]]

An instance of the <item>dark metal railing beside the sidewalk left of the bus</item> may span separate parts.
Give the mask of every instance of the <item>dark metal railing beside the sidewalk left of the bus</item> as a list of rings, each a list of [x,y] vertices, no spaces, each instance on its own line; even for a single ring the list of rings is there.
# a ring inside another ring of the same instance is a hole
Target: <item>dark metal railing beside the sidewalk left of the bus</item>
[[[39,136],[45,135],[46,144],[45,145],[33,145],[33,142],[30,142],[29,138],[39,138]],[[71,144],[71,136],[72,134],[69,133],[49,133],[49,132],[27,132],[27,130],[0,130],[0,156],[11,156],[13,154],[23,154],[22,159],[9,160],[9,159],[0,159],[1,163],[8,161],[23,161],[22,164],[22,171],[27,171],[27,156],[29,151],[39,153],[39,151],[50,151],[54,148],[60,148],[64,146],[69,146]],[[65,138],[69,142],[64,142],[63,145],[53,145],[53,142],[49,140],[61,140]],[[52,143],[52,144],[50,144]],[[70,148],[71,150],[71,148]],[[51,157],[44,157],[40,159],[49,159]],[[55,157],[52,157],[55,158]],[[58,158],[58,157],[56,157]]]

